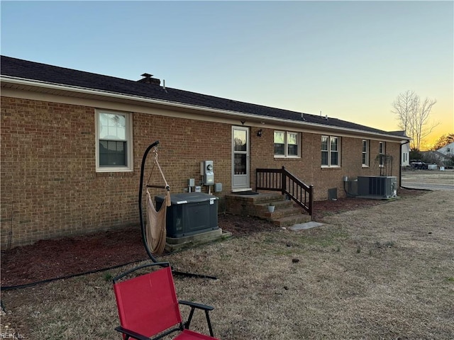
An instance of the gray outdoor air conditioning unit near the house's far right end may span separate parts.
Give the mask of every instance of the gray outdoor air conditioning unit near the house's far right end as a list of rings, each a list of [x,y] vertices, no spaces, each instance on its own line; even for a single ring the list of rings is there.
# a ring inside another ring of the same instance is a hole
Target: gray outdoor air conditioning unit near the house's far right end
[[[358,176],[358,196],[396,197],[397,178],[395,176]]]

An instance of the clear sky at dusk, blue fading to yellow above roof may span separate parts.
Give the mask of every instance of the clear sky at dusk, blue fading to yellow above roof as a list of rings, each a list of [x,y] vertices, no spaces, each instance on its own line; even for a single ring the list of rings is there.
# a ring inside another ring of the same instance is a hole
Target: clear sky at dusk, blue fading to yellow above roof
[[[454,133],[453,1],[1,1],[1,54],[399,130]]]

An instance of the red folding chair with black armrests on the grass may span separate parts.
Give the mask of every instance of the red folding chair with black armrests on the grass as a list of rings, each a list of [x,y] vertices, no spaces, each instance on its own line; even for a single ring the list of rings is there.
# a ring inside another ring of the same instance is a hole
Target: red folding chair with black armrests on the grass
[[[128,280],[121,280],[129,274],[149,266],[164,268]],[[116,331],[123,334],[123,339],[157,340],[173,332],[178,332],[179,334],[174,340],[218,340],[213,337],[209,317],[209,311],[214,307],[189,301],[178,301],[172,268],[168,262],[138,266],[113,280],[121,324],[120,327],[116,327]],[[191,307],[187,322],[182,322],[179,305]],[[189,324],[196,309],[204,310],[211,336],[189,330]]]

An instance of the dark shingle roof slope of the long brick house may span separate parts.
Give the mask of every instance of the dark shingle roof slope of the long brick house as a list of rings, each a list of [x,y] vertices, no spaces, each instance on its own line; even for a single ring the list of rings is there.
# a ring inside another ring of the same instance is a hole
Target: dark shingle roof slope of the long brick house
[[[164,89],[162,86],[156,84],[147,84],[141,81],[109,77],[101,74],[77,71],[75,69],[56,67],[38,62],[29,62],[6,56],[1,56],[1,75],[35,81],[44,81],[64,86],[78,86],[85,89],[108,91],[116,94],[126,94],[162,101],[184,103],[194,106],[203,106],[206,108],[248,113],[250,115],[278,118],[282,120],[293,120],[295,122],[305,121],[306,123],[328,125],[336,128],[346,128],[392,135],[390,132],[370,128],[365,125],[350,123],[336,118],[326,119],[320,115],[311,115],[308,113],[304,113],[304,118],[301,118],[300,112],[271,108],[252,103],[244,103],[241,101],[233,101],[231,99],[209,96],[206,94],[196,94],[191,91],[183,91],[169,87]]]

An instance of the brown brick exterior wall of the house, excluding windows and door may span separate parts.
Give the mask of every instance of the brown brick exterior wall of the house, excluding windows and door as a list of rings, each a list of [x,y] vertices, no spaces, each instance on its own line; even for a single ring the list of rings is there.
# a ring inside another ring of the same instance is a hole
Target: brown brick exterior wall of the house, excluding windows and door
[[[29,244],[38,239],[83,234],[135,225],[143,152],[160,141],[158,159],[172,193],[182,193],[187,179],[200,183],[200,161],[214,161],[219,211],[223,195],[231,192],[231,128],[229,123],[133,113],[134,169],[96,173],[95,108],[65,103],[1,98],[1,247]],[[238,124],[238,121],[232,122]],[[259,129],[262,137],[257,136]],[[304,132],[300,159],[273,156],[273,130],[250,128],[250,185],[255,169],[285,166],[302,181],[313,184],[316,200],[326,200],[329,188],[343,197],[343,176],[378,175],[373,159],[378,140],[370,141],[370,167],[361,166],[361,138],[341,137],[342,166],[321,168],[321,135]],[[394,156],[393,176],[399,171],[399,144],[387,143]],[[145,181],[153,153],[145,166]],[[154,170],[151,183],[163,183]],[[206,189],[206,188],[204,188]],[[150,189],[152,195],[163,194]]]

